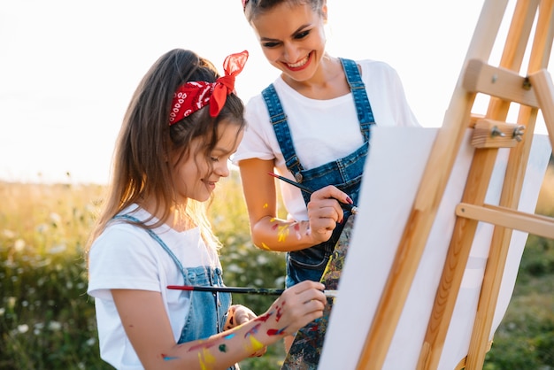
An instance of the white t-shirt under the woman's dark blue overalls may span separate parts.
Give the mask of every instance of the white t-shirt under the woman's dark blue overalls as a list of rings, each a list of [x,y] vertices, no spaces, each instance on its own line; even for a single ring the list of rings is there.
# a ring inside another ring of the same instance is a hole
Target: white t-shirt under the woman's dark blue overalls
[[[361,66],[375,124],[380,127],[419,127],[396,70],[380,61],[361,60],[357,63]],[[281,77],[273,85],[287,115],[296,155],[304,169],[345,157],[362,145],[364,138],[351,94],[316,100],[299,94]],[[234,163],[250,158],[274,160],[276,172],[294,180],[285,165],[261,94],[250,98],[245,116],[248,126],[233,156]],[[371,155],[371,150],[368,155]],[[282,181],[280,185],[289,217],[308,220],[300,190]]]

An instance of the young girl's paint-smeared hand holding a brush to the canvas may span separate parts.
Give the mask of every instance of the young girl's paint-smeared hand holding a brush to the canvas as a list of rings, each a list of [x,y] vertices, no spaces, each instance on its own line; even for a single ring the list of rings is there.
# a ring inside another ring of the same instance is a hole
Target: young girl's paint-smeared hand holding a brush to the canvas
[[[265,321],[268,335],[291,335],[323,316],[327,298],[325,285],[318,281],[301,281],[286,289],[257,320]]]

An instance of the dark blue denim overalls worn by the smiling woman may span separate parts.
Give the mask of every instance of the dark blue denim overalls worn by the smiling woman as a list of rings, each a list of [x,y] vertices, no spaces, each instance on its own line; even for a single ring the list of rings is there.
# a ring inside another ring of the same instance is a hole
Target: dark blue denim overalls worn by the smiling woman
[[[354,204],[358,204],[365,157],[369,148],[370,128],[375,122],[369,99],[365,93],[364,81],[362,81],[358,71],[358,65],[350,59],[340,58],[340,60],[346,74],[346,80],[350,85],[350,91],[354,97],[354,104],[356,104],[360,131],[364,135],[362,146],[344,158],[310,170],[304,170],[304,167],[296,157],[296,150],[292,143],[287,116],[283,112],[281,101],[279,96],[277,96],[277,91],[273,87],[273,84],[262,91],[262,96],[264,96],[265,105],[273,123],[273,130],[275,135],[277,135],[277,141],[281,147],[285,163],[296,181],[302,182],[303,185],[313,190],[324,188],[327,185],[335,185],[336,188],[347,193],[354,201]],[[302,195],[304,202],[308,204],[310,194],[303,192]],[[349,216],[350,212],[344,213],[342,225],[344,225]],[[288,288],[304,280],[319,281],[327,265],[327,259],[333,253],[335,243],[341,235],[342,225],[337,224],[333,235],[327,242],[314,245],[302,251],[290,251],[287,253],[286,286]]]

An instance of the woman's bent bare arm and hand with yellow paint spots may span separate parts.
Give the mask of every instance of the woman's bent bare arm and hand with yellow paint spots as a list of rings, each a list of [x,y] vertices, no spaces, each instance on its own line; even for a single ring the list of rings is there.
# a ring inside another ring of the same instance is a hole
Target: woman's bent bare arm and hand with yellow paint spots
[[[273,160],[243,159],[239,162],[242,190],[250,218],[252,242],[260,249],[298,251],[326,242],[342,221],[342,209],[336,199],[346,202],[347,195],[335,187],[312,194],[307,221],[277,218],[277,193]]]

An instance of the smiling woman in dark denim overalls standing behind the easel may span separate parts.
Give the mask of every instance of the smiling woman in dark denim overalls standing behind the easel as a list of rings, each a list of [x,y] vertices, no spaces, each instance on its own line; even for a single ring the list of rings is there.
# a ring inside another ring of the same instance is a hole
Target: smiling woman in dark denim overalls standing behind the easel
[[[235,156],[253,242],[286,251],[286,285],[319,281],[342,225],[339,202],[358,204],[371,127],[419,126],[390,66],[335,58],[325,50],[326,0],[242,0],[267,61],[281,75],[246,106]],[[371,104],[370,104],[371,102]],[[277,215],[281,174],[315,191],[281,183],[289,216]]]

